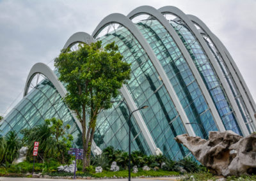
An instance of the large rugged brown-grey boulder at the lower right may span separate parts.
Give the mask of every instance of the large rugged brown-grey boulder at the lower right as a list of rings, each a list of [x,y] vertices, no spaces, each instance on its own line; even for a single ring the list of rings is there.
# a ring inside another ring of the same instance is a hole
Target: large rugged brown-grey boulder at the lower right
[[[210,131],[209,140],[181,134],[174,138],[216,175],[256,174],[256,134],[243,138],[233,131]]]

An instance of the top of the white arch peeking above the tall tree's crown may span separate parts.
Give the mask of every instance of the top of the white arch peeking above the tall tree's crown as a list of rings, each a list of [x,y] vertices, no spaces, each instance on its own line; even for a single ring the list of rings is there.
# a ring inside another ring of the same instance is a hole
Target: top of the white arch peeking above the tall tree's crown
[[[63,49],[66,49],[68,47],[72,47],[72,45],[83,42],[86,44],[90,44],[92,42],[95,42],[95,39],[88,33],[85,32],[77,32],[72,34],[70,38],[68,38],[67,42],[65,43]]]

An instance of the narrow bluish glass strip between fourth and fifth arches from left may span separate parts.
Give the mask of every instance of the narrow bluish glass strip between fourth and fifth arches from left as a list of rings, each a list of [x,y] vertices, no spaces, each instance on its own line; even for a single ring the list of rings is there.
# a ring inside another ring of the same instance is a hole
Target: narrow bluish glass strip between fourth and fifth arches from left
[[[173,20],[170,21],[170,24],[173,26],[177,34],[179,34],[180,39],[195,62],[196,68],[200,72],[200,75],[202,76],[205,85],[211,94],[212,100],[214,101],[220,114],[223,125],[227,130],[232,130],[235,133],[242,135],[241,129],[239,128],[234,115],[234,110],[232,110],[232,107],[228,102],[228,98],[225,95],[223,87],[221,86],[218,75],[216,75],[216,72],[209,61],[209,58],[205,54],[204,49],[201,47],[198,40],[196,40],[195,36],[191,33],[191,31],[189,31],[186,25]]]

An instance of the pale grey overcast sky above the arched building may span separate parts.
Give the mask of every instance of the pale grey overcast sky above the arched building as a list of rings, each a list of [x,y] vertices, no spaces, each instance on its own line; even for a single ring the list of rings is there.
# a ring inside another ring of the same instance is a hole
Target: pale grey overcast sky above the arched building
[[[227,47],[256,98],[256,0],[0,0],[0,115],[22,98],[33,64],[51,62],[77,31],[92,34],[107,15],[127,15],[141,5],[176,6],[203,20]]]

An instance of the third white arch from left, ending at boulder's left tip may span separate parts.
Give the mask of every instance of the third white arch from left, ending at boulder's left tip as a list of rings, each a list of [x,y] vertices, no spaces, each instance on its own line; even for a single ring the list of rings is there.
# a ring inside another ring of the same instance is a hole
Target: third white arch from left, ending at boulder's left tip
[[[191,125],[186,124],[186,123],[189,123],[188,117],[186,116],[186,113],[184,112],[182,105],[180,104],[179,98],[177,97],[177,95],[172,87],[172,84],[169,82],[168,77],[167,77],[166,73],[164,72],[164,69],[162,68],[162,66],[161,66],[160,62],[158,61],[156,55],[154,54],[152,48],[150,47],[150,45],[148,45],[147,40],[145,40],[145,38],[140,33],[140,31],[138,30],[136,25],[134,25],[129,18],[127,18],[124,15],[119,14],[119,13],[114,13],[114,14],[108,15],[96,27],[95,31],[93,31],[92,36],[93,37],[97,36],[97,34],[99,34],[100,31],[102,29],[104,29],[104,27],[106,27],[107,25],[109,25],[111,23],[117,23],[117,24],[123,25],[132,33],[132,35],[136,38],[136,40],[138,40],[141,47],[145,50],[150,61],[156,68],[157,73],[159,74],[159,76],[161,76],[164,86],[166,87],[166,90],[167,90],[170,98],[172,99],[173,104],[175,105],[175,108],[177,109],[177,112],[180,115],[180,118],[184,124],[186,131],[188,132],[189,135],[195,136],[195,133],[194,133]],[[145,122],[143,124],[145,124]],[[141,129],[141,131],[143,131],[142,130],[143,127],[140,127],[140,129]]]

